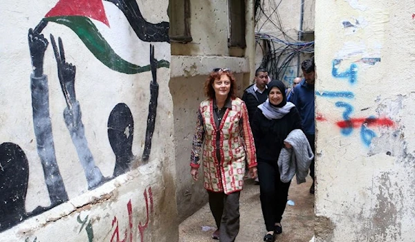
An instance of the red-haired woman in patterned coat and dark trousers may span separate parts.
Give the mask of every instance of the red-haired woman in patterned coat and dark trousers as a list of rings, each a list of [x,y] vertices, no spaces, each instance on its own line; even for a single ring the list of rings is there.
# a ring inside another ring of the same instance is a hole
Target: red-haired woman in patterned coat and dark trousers
[[[236,97],[236,88],[230,70],[215,69],[210,73],[205,81],[208,99],[199,106],[190,161],[190,173],[195,181],[202,161],[204,186],[218,228],[212,238],[223,242],[234,241],[239,232],[239,194],[243,188],[245,160],[251,177],[257,177],[248,110]]]

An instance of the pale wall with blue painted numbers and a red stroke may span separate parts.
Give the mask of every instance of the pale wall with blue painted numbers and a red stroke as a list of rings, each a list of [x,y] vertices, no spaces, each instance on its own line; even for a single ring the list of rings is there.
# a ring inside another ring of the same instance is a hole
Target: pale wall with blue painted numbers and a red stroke
[[[316,1],[316,241],[415,241],[413,6]]]

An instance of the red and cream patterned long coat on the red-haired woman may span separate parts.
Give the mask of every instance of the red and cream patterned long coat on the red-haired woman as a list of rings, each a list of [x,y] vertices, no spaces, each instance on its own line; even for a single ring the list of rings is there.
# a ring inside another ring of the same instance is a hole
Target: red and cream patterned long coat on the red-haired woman
[[[199,168],[204,142],[204,186],[212,192],[230,194],[243,188],[246,156],[248,168],[257,166],[254,139],[250,130],[248,111],[241,99],[232,99],[232,108],[227,108],[219,127],[215,125],[213,112],[212,99],[201,102],[190,165]],[[221,144],[219,147],[221,162],[216,157],[217,134]]]

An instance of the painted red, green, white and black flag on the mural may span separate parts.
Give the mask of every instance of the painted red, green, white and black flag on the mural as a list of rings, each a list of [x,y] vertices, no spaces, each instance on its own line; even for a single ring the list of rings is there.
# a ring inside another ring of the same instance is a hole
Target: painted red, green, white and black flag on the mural
[[[127,17],[138,38],[146,42],[169,42],[169,23],[149,23],[142,17],[135,0],[107,0],[114,3]],[[91,21],[95,19],[109,26],[102,0],[59,0],[43,21],[55,22],[71,28],[86,48],[111,70],[126,74],[147,72],[150,65],[140,66],[122,59],[109,46]],[[42,30],[39,30],[42,31]],[[169,67],[169,61],[158,61],[158,68]]]

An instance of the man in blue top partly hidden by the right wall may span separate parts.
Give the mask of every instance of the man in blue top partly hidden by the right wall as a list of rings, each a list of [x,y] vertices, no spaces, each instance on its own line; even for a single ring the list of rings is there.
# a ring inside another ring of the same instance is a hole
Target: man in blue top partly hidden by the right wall
[[[314,112],[314,83],[315,83],[314,59],[306,59],[301,64],[304,79],[293,88],[293,92],[288,101],[297,107],[302,119],[302,130],[310,143],[311,150],[315,154],[315,112]],[[310,165],[310,176],[313,184],[310,193],[314,194],[314,159]]]

